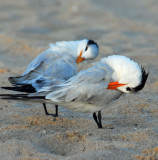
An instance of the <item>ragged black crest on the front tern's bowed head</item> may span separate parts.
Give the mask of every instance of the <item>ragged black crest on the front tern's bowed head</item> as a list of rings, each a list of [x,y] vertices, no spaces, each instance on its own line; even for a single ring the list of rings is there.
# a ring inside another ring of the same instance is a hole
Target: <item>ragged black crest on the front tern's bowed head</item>
[[[146,72],[146,70],[145,70],[144,67],[141,67],[141,72],[142,72],[141,83],[140,83],[137,87],[132,88],[132,92],[138,92],[138,91],[140,91],[141,89],[143,89],[144,86],[145,86],[145,83],[146,83],[146,80],[147,80],[147,78],[148,78],[149,73]]]

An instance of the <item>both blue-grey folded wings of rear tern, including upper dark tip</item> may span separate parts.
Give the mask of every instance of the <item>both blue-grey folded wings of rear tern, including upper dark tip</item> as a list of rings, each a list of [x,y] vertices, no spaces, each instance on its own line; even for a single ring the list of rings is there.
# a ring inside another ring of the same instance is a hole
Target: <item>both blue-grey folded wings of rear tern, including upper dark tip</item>
[[[42,87],[66,81],[77,72],[77,65],[70,55],[61,55],[47,50],[35,58],[20,77],[9,81],[16,85],[31,84],[36,91]]]

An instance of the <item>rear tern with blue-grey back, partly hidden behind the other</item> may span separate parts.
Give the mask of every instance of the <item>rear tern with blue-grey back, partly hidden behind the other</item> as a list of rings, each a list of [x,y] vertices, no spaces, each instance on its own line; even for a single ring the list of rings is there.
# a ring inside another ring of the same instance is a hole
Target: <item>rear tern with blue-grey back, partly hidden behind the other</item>
[[[63,83],[77,73],[77,64],[95,59],[99,47],[93,40],[61,41],[50,44],[50,48],[39,54],[19,77],[9,77],[13,87],[2,87],[19,92],[35,93],[41,88]],[[43,107],[46,115],[45,103]],[[58,116],[58,105],[55,105]],[[52,115],[52,114],[51,114]]]

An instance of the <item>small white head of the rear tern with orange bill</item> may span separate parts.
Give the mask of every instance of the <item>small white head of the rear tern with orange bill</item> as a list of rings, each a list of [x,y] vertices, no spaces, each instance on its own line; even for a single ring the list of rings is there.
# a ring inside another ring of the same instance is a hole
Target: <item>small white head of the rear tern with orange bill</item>
[[[95,59],[99,55],[99,47],[93,40],[83,40],[79,44],[76,63]]]

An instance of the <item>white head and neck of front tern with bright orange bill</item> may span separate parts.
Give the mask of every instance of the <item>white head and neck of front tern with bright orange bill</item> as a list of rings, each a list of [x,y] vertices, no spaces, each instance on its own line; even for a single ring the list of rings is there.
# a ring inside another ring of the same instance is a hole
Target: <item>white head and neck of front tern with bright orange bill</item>
[[[143,89],[149,74],[144,67],[120,55],[109,56],[105,61],[113,69],[112,81],[107,89],[124,93],[135,93]]]

